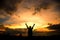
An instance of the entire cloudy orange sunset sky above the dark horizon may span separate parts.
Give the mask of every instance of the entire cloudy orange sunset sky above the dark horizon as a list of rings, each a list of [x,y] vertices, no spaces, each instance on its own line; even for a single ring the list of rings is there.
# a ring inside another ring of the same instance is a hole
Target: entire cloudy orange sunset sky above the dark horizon
[[[60,0],[0,0],[0,24],[9,28],[34,29],[60,23]]]

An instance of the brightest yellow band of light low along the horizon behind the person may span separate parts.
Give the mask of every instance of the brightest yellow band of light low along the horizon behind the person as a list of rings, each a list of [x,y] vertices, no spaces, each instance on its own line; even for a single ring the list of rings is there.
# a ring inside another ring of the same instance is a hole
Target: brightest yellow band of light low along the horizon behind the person
[[[34,22],[26,22],[26,24],[29,26],[33,26],[33,24],[35,24],[34,26],[34,29],[38,29],[38,28],[46,28],[48,27],[49,25],[42,25],[42,24],[39,24],[39,23],[34,23]],[[5,25],[6,27],[8,28],[12,28],[12,29],[16,29],[16,28],[27,28],[26,25],[25,25],[25,22],[24,23],[21,23],[20,25],[19,24],[13,24],[13,25]]]

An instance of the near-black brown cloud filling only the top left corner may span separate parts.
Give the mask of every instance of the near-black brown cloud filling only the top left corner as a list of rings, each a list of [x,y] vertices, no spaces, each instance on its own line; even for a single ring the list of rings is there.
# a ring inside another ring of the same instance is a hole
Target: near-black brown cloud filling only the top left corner
[[[0,0],[0,10],[4,10],[7,14],[16,11],[16,3],[20,3],[22,0]],[[1,14],[1,13],[0,13]]]

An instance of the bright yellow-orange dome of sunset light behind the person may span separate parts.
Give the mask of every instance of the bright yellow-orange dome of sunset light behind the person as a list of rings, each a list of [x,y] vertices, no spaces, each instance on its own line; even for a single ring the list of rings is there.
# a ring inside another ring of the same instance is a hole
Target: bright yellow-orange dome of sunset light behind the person
[[[28,13],[26,13],[26,14],[22,13],[19,15],[20,15],[19,18],[16,17],[17,24],[12,24],[11,26],[10,25],[5,25],[5,26],[8,28],[12,28],[12,29],[27,28],[25,23],[31,27],[33,26],[33,24],[35,24],[33,29],[46,28],[49,26],[49,25],[47,25],[47,21],[44,20],[42,17],[39,17],[38,15],[32,16],[31,14],[28,14]]]

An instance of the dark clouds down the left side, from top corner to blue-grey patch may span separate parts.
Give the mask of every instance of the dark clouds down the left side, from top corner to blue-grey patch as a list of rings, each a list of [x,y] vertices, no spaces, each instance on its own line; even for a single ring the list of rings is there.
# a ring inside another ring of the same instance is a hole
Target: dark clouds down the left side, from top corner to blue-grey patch
[[[22,0],[0,0],[0,23],[10,19],[10,15],[17,10],[16,5]]]

